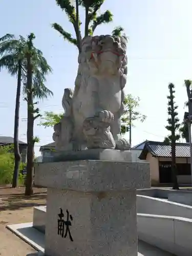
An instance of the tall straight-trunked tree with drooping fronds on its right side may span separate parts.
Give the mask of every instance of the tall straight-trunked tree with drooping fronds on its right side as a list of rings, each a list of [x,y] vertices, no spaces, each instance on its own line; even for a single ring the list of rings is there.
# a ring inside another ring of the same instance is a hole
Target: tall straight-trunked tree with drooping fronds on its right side
[[[35,138],[33,135],[34,121],[41,116],[39,109],[35,109],[33,102],[34,98],[47,98],[53,93],[45,87],[46,75],[50,73],[51,67],[48,65],[42,52],[33,46],[33,39],[35,35],[31,33],[27,38],[26,49],[26,71],[27,80],[25,92],[27,93],[27,179],[25,195],[30,196],[33,194],[33,174],[34,174],[34,143]]]

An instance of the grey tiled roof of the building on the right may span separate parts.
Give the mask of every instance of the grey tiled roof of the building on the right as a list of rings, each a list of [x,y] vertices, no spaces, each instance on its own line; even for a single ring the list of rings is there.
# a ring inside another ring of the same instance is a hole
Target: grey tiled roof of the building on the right
[[[146,141],[139,159],[145,160],[147,153],[151,153],[154,157],[171,157],[172,147],[159,141]],[[176,143],[176,157],[190,157],[189,143]]]

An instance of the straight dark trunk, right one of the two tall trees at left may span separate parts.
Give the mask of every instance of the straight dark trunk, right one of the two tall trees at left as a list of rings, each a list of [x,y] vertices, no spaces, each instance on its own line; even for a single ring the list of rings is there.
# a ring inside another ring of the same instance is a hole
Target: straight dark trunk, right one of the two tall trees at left
[[[27,54],[27,177],[25,195],[33,195],[34,141],[33,141],[33,90],[31,54]]]

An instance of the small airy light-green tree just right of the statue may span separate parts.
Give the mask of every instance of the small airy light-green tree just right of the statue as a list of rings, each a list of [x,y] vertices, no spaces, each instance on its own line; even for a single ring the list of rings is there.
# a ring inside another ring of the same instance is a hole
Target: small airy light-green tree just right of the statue
[[[124,98],[124,111],[123,116],[121,117],[121,122],[126,125],[121,125],[121,134],[125,134],[125,132],[129,131],[129,126],[134,127],[134,121],[139,120],[140,122],[144,122],[146,119],[145,115],[142,115],[137,108],[139,106],[140,98],[134,97],[131,94],[127,94]],[[128,126],[128,127],[127,127]]]

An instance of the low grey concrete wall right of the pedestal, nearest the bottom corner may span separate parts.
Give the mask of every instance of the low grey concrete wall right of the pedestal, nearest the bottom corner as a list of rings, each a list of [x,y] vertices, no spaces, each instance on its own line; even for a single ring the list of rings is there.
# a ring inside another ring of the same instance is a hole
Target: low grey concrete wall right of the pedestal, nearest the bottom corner
[[[178,256],[191,256],[192,220],[137,214],[138,239]]]

